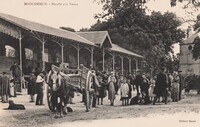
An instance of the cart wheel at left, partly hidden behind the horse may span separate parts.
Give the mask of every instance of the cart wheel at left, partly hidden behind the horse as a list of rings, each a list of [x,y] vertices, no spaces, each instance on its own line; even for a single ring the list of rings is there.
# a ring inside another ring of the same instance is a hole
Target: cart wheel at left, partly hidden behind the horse
[[[47,89],[47,103],[48,103],[49,109],[53,112],[53,111],[56,110],[55,109],[56,107],[53,104],[52,94],[53,94],[52,89],[50,87],[48,87],[48,89]]]

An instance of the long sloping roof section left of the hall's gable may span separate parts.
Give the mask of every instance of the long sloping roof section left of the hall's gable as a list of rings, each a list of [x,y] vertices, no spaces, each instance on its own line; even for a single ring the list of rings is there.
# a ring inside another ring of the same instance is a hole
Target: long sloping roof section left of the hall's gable
[[[70,39],[70,40],[73,40],[73,41],[78,41],[78,42],[81,42],[81,43],[84,43],[84,44],[94,46],[94,43],[92,43],[89,40],[77,35],[74,32],[50,27],[50,26],[47,26],[47,25],[28,21],[28,20],[25,20],[25,19],[22,19],[22,18],[18,18],[18,17],[12,16],[12,15],[3,14],[3,13],[0,13],[0,18],[8,21],[8,22],[10,22],[14,25],[17,25],[17,26],[19,26],[23,29],[27,29],[27,30],[31,30],[31,31],[35,31],[35,32],[41,32],[41,33],[48,34],[48,35],[54,35],[54,36],[58,36],[58,37],[61,37],[61,38]]]

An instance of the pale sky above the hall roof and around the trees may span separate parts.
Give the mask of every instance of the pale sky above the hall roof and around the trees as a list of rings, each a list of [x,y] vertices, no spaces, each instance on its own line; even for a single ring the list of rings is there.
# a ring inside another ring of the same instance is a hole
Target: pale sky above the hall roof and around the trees
[[[1,0],[0,13],[11,14],[30,21],[59,28],[71,27],[78,31],[90,28],[97,19],[94,15],[102,12],[102,5],[94,0]],[[38,5],[39,4],[39,5]],[[155,11],[171,11],[177,16],[191,18],[185,15],[181,4],[171,8],[169,0],[151,0],[148,8]],[[188,24],[185,24],[186,26]],[[185,26],[185,28],[186,28]],[[179,52],[178,45],[175,52]]]

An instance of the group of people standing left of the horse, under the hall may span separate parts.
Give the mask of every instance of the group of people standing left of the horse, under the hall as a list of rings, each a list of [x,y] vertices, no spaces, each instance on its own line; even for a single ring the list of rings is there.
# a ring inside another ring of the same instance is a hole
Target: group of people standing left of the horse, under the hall
[[[22,89],[28,89],[27,94],[30,95],[30,102],[35,102],[34,95],[37,94],[35,104],[43,105],[45,71],[33,70],[26,79],[20,73],[21,70],[18,63],[14,62],[10,68],[10,74],[2,72],[2,75],[0,75],[0,99],[2,103],[8,103],[9,98],[17,97],[17,91],[21,92]],[[22,76],[21,79],[20,76]]]

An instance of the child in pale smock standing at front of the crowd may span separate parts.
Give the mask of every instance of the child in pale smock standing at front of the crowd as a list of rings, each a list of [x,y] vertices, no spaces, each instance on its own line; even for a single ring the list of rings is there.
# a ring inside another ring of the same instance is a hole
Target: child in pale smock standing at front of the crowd
[[[123,78],[123,82],[121,83],[121,100],[122,100],[122,105],[126,106],[128,105],[128,94],[129,94],[129,86],[126,83],[126,78]]]

